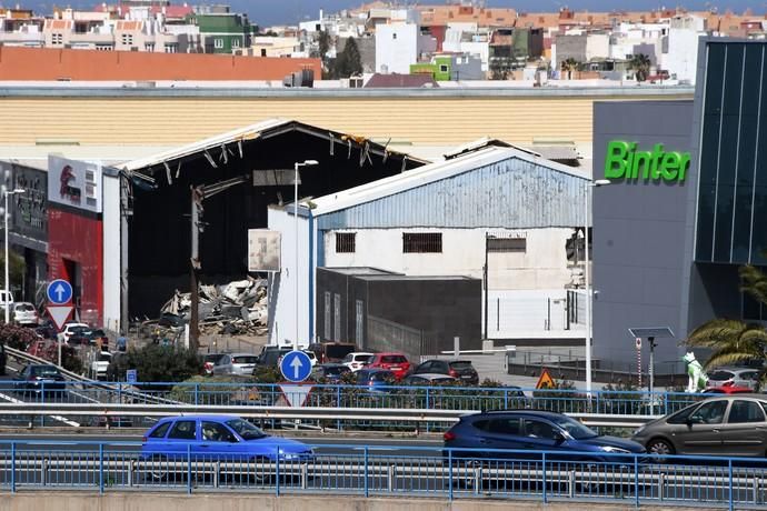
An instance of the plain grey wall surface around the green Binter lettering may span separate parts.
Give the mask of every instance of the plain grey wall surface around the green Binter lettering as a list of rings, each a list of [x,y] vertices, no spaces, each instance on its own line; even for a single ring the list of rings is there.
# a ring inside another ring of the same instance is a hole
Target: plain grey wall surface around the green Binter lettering
[[[604,179],[610,140],[663,143],[667,151],[690,151],[693,102],[597,103],[594,178]],[[683,183],[614,180],[594,190],[594,353],[607,361],[636,357],[631,327],[670,327],[676,339],[660,339],[656,361],[679,360],[686,335],[685,251],[687,193]],[[645,343],[646,344],[646,343]],[[645,348],[646,349],[646,348]],[[649,353],[643,353],[647,361]],[[668,365],[667,365],[668,367]],[[660,370],[660,367],[658,368]]]

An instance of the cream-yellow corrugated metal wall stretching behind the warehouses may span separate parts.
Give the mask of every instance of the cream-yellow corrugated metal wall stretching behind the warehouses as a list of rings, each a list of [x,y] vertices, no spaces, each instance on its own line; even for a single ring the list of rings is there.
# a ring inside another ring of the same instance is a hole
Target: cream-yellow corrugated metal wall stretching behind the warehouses
[[[66,139],[80,144],[181,144],[269,118],[295,119],[313,126],[380,140],[417,144],[458,144],[494,137],[529,144],[532,139],[591,142],[595,101],[640,100],[640,94],[591,96],[455,96],[414,97],[301,94],[296,97],[162,97],[163,94],[88,97],[66,90],[56,97],[2,97],[0,140],[34,144]],[[167,92],[167,91],[166,91]],[[232,93],[229,91],[228,93]],[[564,94],[564,93],[562,93]],[[690,94],[654,97],[688,98]]]

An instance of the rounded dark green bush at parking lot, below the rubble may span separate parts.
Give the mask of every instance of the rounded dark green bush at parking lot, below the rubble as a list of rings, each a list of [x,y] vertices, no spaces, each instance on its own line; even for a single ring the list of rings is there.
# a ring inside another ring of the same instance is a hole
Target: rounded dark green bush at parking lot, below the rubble
[[[202,359],[195,352],[171,345],[148,344],[129,350],[113,360],[112,374],[124,379],[128,369],[136,369],[139,382],[183,381],[202,372]]]

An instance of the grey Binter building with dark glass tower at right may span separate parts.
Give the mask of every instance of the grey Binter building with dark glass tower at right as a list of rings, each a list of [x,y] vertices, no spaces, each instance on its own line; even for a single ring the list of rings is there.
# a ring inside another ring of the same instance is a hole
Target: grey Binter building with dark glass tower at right
[[[767,267],[767,42],[701,39],[694,101],[599,102],[594,122],[595,358],[636,365],[628,329],[669,327],[656,370],[680,371],[701,323],[767,320],[738,280]]]

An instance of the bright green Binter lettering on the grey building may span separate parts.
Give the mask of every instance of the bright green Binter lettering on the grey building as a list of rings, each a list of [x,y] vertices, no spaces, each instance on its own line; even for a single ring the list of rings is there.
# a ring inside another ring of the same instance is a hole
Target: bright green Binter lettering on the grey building
[[[636,142],[612,140],[607,144],[605,178],[684,182],[689,166],[689,152],[665,151],[663,143],[637,151]]]

